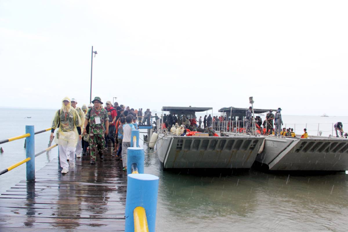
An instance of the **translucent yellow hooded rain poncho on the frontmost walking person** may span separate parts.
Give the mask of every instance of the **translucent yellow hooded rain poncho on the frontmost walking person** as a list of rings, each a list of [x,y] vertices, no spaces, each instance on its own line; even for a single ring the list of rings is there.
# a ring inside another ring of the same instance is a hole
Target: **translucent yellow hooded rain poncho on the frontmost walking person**
[[[68,105],[64,104],[63,101],[65,100],[69,101]],[[62,108],[57,110],[52,122],[52,128],[57,128],[54,142],[62,145],[68,141],[69,147],[76,147],[79,138],[76,127],[81,126],[81,124],[81,118],[71,106],[70,99],[68,97],[63,98]]]

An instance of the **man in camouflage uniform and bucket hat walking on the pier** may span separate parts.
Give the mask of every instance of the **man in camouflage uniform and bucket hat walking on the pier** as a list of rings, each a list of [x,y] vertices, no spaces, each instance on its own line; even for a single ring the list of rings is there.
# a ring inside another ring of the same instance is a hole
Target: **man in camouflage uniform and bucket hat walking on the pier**
[[[109,133],[109,115],[108,112],[101,107],[103,102],[100,97],[95,97],[92,101],[94,107],[89,109],[86,114],[84,125],[84,134],[86,133],[86,126],[89,122],[89,151],[90,163],[95,164],[96,153],[103,159],[103,149],[105,144],[105,135]]]

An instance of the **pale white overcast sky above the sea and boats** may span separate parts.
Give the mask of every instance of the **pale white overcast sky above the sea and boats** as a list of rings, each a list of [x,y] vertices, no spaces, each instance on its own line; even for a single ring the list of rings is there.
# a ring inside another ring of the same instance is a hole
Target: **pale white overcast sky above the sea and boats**
[[[348,1],[0,1],[0,106],[347,115]]]

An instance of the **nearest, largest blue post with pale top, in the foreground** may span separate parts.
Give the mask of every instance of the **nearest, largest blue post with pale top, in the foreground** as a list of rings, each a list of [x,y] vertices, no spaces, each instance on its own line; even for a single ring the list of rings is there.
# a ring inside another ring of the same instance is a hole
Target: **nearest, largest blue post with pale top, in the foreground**
[[[151,174],[129,174],[126,198],[126,232],[134,232],[134,215],[136,207],[145,209],[150,232],[155,231],[158,177]]]

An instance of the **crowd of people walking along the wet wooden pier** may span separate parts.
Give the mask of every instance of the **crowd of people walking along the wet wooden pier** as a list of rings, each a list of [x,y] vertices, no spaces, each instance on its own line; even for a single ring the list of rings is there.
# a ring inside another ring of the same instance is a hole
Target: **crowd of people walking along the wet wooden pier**
[[[134,110],[129,106],[114,105],[106,101],[105,107],[100,97],[95,97],[93,104],[77,106],[75,98],[65,97],[61,109],[57,110],[53,122],[50,140],[55,139],[60,152],[62,173],[75,168],[77,158],[90,154],[90,164],[94,165],[97,154],[103,160],[103,151],[112,144],[111,152],[122,160],[123,170],[127,170],[127,148],[130,146],[131,133],[138,129],[138,119],[150,123],[151,112],[147,109]]]

